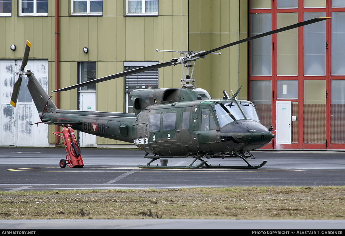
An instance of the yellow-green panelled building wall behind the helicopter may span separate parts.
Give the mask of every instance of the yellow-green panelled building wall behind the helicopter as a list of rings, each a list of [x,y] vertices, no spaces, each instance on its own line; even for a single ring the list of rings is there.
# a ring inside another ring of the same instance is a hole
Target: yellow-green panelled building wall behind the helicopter
[[[32,46],[29,59],[48,59],[49,91],[55,90],[55,1],[48,2],[48,17],[19,17],[17,0],[12,16],[0,17],[0,58],[21,59],[24,42]],[[178,53],[162,50],[210,50],[248,35],[247,1],[159,0],[158,16],[125,16],[125,0],[103,0],[102,16],[71,16],[70,1],[60,1],[60,87],[78,83],[78,62],[96,62],[96,76],[122,72],[124,61],[168,61]],[[17,45],[16,51],[10,45]],[[82,52],[88,47],[87,54]],[[223,97],[243,85],[247,99],[247,43],[208,55],[195,63],[193,78],[211,97]],[[180,87],[181,66],[160,68],[159,87]],[[235,92],[235,91],[234,91]],[[49,94],[56,96],[55,94]],[[60,109],[77,110],[77,90],[60,93]],[[96,86],[96,110],[124,112],[124,78]],[[55,142],[49,126],[49,142]],[[124,142],[97,137],[98,144]]]

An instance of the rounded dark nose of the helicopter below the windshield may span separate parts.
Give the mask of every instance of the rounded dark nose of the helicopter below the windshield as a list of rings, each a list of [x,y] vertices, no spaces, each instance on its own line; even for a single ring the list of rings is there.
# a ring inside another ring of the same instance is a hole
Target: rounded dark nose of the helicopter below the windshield
[[[275,136],[265,126],[253,120],[238,120],[224,126],[221,135],[231,135],[238,143],[266,144]]]

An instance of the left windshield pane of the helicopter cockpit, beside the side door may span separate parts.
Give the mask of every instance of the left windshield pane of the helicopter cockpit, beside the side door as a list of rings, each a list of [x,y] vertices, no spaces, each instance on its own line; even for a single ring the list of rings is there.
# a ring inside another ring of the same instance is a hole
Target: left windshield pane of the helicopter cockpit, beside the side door
[[[220,127],[223,127],[235,120],[244,119],[244,116],[236,103],[217,103],[215,106],[216,115]]]

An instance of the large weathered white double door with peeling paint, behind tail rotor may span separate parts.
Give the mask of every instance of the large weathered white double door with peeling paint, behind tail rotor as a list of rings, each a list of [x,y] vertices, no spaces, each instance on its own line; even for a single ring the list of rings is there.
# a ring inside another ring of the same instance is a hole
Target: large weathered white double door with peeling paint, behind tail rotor
[[[0,61],[0,145],[48,147],[48,125],[29,125],[39,122],[40,117],[27,88],[27,76],[22,78],[16,108],[10,105],[20,66],[20,60]],[[48,92],[48,61],[29,60],[25,69],[30,69]]]

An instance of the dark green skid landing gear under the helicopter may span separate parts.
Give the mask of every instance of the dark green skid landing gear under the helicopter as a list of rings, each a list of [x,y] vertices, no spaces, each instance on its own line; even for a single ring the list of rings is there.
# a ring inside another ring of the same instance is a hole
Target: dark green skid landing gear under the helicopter
[[[258,169],[260,167],[263,167],[267,161],[263,161],[261,164],[259,165],[251,165],[249,164],[249,162],[247,161],[247,157],[252,158],[252,154],[249,153],[249,156],[246,156],[243,152],[240,154],[234,153],[231,156],[228,157],[238,157],[241,158],[242,160],[244,160],[247,164],[247,166],[237,166],[237,165],[209,165],[207,164],[207,161],[204,161],[201,158],[204,158],[205,155],[203,157],[197,157],[194,158],[194,160],[187,166],[176,166],[176,165],[150,165],[152,162],[161,159],[161,158],[186,158],[183,156],[156,156],[155,158],[152,158],[152,160],[150,162],[148,162],[146,165],[138,165],[139,168],[141,169],[182,169],[182,170],[194,170],[197,168],[205,168],[205,169]],[[254,156],[253,156],[254,157]],[[148,158],[147,156],[145,156],[145,158]],[[255,157],[254,157],[255,158]],[[198,165],[194,165],[193,164],[197,161],[201,161]]]

